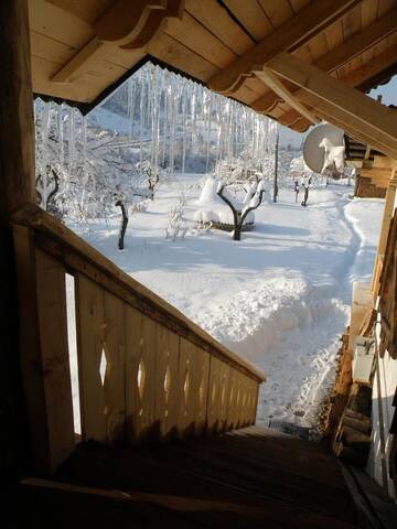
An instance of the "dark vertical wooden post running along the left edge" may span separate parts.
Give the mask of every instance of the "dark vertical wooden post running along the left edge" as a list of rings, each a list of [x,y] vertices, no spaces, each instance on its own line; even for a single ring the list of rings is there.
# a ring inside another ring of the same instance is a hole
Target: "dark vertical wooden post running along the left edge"
[[[10,215],[34,197],[34,122],[26,0],[0,2],[0,475],[29,460],[19,365],[17,278]],[[21,468],[22,467],[22,468]],[[7,504],[7,499],[6,499]],[[7,515],[4,515],[7,516]]]

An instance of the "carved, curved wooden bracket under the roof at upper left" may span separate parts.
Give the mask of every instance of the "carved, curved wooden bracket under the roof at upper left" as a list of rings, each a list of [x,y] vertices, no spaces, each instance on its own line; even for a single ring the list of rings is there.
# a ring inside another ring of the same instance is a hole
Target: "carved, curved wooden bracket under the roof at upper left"
[[[94,23],[94,39],[51,79],[73,83],[93,61],[119,47],[133,51],[146,47],[163,29],[169,18],[182,18],[184,0],[117,0]]]

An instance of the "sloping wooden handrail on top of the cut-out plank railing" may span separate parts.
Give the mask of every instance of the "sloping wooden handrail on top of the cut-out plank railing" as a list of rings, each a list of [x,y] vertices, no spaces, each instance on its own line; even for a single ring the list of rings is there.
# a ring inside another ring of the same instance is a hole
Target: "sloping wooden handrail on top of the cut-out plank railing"
[[[72,273],[77,271],[87,276],[143,314],[257,382],[266,380],[260,369],[228,350],[180,311],[132,279],[39,206],[33,204],[22,206],[14,213],[12,224],[33,229],[35,245],[61,260]]]

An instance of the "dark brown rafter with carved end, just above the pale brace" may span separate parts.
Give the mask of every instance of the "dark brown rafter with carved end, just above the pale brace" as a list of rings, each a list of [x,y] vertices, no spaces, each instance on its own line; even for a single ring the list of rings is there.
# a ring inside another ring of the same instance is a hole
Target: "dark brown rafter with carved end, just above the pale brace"
[[[222,94],[233,94],[253,69],[259,69],[275,55],[293,51],[323,31],[353,9],[361,0],[314,0],[299,13],[287,20],[265,40],[248,50],[225,69],[208,80],[208,86]]]

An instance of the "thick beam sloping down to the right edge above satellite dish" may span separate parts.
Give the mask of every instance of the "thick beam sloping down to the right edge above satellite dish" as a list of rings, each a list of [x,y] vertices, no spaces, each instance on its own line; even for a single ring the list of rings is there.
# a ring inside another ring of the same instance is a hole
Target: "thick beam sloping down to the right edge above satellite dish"
[[[299,100],[312,106],[315,115],[318,115],[316,109],[325,105],[331,109],[331,114],[337,111],[346,121],[360,126],[377,143],[382,142],[387,149],[397,151],[395,110],[374,101],[355,88],[289,53],[282,53],[271,60],[268,67],[275,74],[298,85],[301,88],[298,95]],[[368,143],[376,147],[374,142]],[[382,152],[385,152],[385,148]]]

